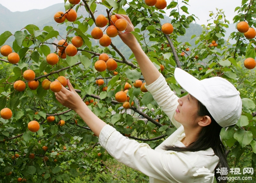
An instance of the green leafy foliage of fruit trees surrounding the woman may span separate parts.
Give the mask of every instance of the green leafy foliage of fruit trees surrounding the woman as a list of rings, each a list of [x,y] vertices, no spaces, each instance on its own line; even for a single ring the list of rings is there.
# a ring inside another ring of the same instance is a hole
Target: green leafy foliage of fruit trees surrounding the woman
[[[191,48],[189,42],[179,42],[177,39],[178,36],[185,35],[195,18],[187,12],[189,0],[183,0],[179,4],[171,1],[167,4],[167,9],[171,9],[169,17],[174,26],[174,33],[170,36],[161,32],[165,11],[148,7],[141,0],[82,0],[75,6],[71,6],[66,0],[64,2],[65,10],[86,9],[87,12],[79,16],[75,22],[66,20],[62,23],[62,26],[66,27],[65,33],[62,34],[49,25],[41,30],[37,25],[30,24],[15,33],[5,31],[0,35],[0,46],[4,45],[8,38],[15,38],[11,46],[21,58],[17,65],[10,67],[11,71],[8,71],[6,76],[2,74],[3,78],[0,79],[0,109],[8,107],[13,112],[10,120],[0,118],[0,183],[15,182],[18,177],[27,179],[27,183],[71,180],[79,182],[80,178],[76,177],[83,173],[96,174],[94,181],[114,180],[114,176],[111,178],[109,174],[101,173],[107,171],[104,162],[111,158],[110,155],[100,147],[98,137],[94,136],[75,112],[61,105],[53,92],[41,87],[42,81],[46,78],[54,81],[58,76],[66,76],[83,100],[95,101],[88,107],[96,116],[114,126],[123,135],[132,134],[130,138],[148,143],[151,148],[159,145],[164,137],[174,132],[169,118],[153,100],[152,95],[149,92],[142,93],[140,89],[133,87],[135,80],[143,80],[133,54],[123,56],[122,52],[126,50],[115,47],[114,44],[110,47],[100,47],[98,42],[96,45],[92,44],[95,40],[91,38],[88,30],[89,27],[95,27],[92,12],[96,11],[98,4],[104,5],[108,9],[107,13],[128,14],[133,25],[138,25],[139,28],[136,28],[133,34],[154,65],[159,70],[160,65],[165,66],[162,74],[179,97],[186,93],[174,78],[175,67],[181,67],[199,79],[221,76],[233,83],[240,91],[243,112],[237,125],[222,129],[222,140],[236,162],[246,150],[247,154],[252,155],[251,166],[255,167],[255,71],[245,69],[242,62],[245,58],[255,58],[256,42],[254,39],[246,39],[238,31],[230,35],[231,39],[237,41],[236,44],[226,42],[224,27],[229,27],[229,21],[225,19],[221,9],[217,9],[216,13],[210,12],[213,22],[203,25],[199,36],[191,36],[191,39],[195,38],[196,45]],[[241,7],[235,9],[237,16],[234,22],[245,20],[251,27],[256,27],[255,4],[253,0],[242,0]],[[126,10],[123,8],[125,5],[128,5]],[[57,65],[49,65],[46,56],[51,52],[50,47],[57,45],[53,40],[64,38],[70,43],[74,35],[81,36],[84,40],[78,54],[60,59]],[[217,47],[210,47],[213,40],[217,42]],[[187,47],[190,47],[190,51],[185,51]],[[185,56],[181,56],[182,52],[185,52]],[[102,53],[107,53],[118,62],[116,71],[119,74],[115,76],[112,71],[98,72],[94,69],[94,63]],[[6,61],[7,58],[2,57],[2,60]],[[6,63],[3,61],[3,67],[5,66]],[[26,87],[25,91],[17,92],[13,83],[16,80],[23,80],[22,73],[27,69],[35,71],[35,79],[40,83],[39,88],[31,90]],[[106,84],[96,85],[95,81],[98,78],[104,78]],[[115,93],[121,91],[126,82],[132,85],[128,91],[130,103],[135,102],[135,105],[127,110],[114,100]],[[107,91],[102,91],[106,85]],[[146,117],[142,118],[145,114]],[[55,116],[55,121],[48,123],[47,116]],[[32,120],[40,123],[37,133],[27,129],[27,123]],[[65,126],[57,125],[59,120],[64,120]],[[48,146],[48,150],[42,150],[43,146]],[[12,160],[11,156],[15,153],[20,157]],[[28,157],[30,153],[35,154],[34,159]],[[98,153],[101,154],[98,156]],[[44,156],[49,160],[44,161]],[[12,174],[7,176],[9,172]],[[127,181],[127,172],[123,172],[123,175],[126,175],[123,179]],[[87,181],[88,177],[85,179]],[[133,179],[135,178],[130,178],[131,181]]]

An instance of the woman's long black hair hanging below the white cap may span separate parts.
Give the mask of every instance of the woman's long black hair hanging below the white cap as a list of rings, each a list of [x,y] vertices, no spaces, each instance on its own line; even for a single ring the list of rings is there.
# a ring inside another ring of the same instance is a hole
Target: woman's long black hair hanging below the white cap
[[[214,154],[219,157],[219,163],[215,168],[215,178],[218,183],[226,182],[226,181],[218,181],[218,176],[220,176],[220,174],[216,174],[217,168],[229,167],[226,159],[226,148],[223,145],[219,136],[222,127],[213,119],[213,117],[210,115],[206,107],[199,101],[198,101],[197,114],[198,116],[209,116],[211,118],[210,125],[203,127],[197,140],[194,141],[194,143],[191,143],[190,145],[188,145],[187,147],[177,147],[177,146],[166,145],[164,146],[164,150],[171,150],[171,151],[178,151],[178,152],[182,152],[182,151],[197,152],[197,151],[207,150],[209,148],[212,148]]]

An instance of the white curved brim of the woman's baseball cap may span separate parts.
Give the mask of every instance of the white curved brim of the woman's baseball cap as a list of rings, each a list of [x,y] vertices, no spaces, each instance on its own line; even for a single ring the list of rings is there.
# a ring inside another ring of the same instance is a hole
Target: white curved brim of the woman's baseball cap
[[[199,80],[194,76],[188,74],[180,68],[176,68],[174,71],[174,77],[183,89],[185,89],[190,95],[203,103],[203,98],[201,98]]]

